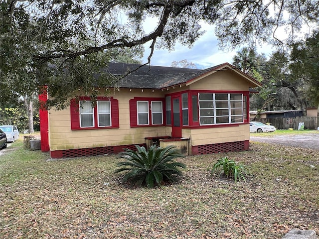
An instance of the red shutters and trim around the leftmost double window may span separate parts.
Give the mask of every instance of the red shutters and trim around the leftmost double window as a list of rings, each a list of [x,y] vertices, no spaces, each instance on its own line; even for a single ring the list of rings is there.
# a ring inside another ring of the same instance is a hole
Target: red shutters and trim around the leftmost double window
[[[90,97],[79,97],[79,99],[71,100],[71,129],[72,130],[87,130],[87,129],[106,129],[106,128],[119,128],[119,101],[113,97],[98,97],[97,101],[110,101],[111,102],[111,126],[98,126],[97,119],[97,106],[94,107],[94,127],[80,127],[80,109],[79,101],[90,101]]]

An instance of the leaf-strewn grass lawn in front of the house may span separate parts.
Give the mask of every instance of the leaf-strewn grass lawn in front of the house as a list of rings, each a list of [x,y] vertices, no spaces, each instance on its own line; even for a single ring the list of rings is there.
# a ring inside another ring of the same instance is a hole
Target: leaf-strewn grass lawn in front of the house
[[[260,136],[261,134],[258,134]],[[251,143],[250,150],[189,156],[179,183],[132,188],[115,156],[50,161],[23,149],[0,156],[0,238],[281,239],[319,235],[319,150]],[[252,173],[237,184],[211,176],[220,157]]]

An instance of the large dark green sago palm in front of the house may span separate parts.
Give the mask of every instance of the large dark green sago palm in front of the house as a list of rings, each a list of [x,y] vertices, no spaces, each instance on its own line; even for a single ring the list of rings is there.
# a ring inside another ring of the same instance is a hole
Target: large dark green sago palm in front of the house
[[[119,162],[116,173],[127,171],[123,177],[123,182],[130,181],[138,186],[146,185],[154,188],[161,186],[163,182],[174,182],[174,176],[181,176],[179,168],[185,168],[185,164],[173,159],[183,157],[178,150],[170,145],[167,147],[157,147],[152,145],[149,151],[145,147],[135,145],[137,151],[125,149],[118,158],[126,161]]]

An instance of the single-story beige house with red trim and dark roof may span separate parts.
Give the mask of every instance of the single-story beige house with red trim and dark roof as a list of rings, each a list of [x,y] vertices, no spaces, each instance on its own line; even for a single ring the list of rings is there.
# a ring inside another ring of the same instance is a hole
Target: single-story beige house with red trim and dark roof
[[[138,67],[110,63],[107,71],[120,78]],[[186,155],[249,147],[249,89],[261,84],[229,63],[204,70],[143,66],[112,87],[94,107],[82,96],[68,109],[40,110],[41,150],[68,158],[136,144],[173,144]]]

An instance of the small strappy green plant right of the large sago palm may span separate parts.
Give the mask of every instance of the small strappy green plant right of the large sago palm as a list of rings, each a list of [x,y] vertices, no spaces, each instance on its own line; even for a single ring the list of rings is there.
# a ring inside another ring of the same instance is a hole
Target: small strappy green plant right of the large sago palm
[[[211,173],[213,174],[215,171],[219,172],[218,177],[223,174],[224,177],[233,178],[235,183],[237,183],[237,180],[246,182],[245,176],[248,175],[248,171],[244,165],[236,163],[227,157],[220,158],[214,163]]]

